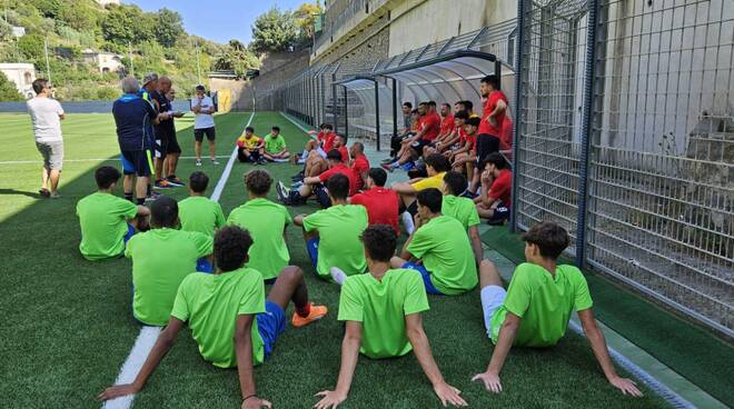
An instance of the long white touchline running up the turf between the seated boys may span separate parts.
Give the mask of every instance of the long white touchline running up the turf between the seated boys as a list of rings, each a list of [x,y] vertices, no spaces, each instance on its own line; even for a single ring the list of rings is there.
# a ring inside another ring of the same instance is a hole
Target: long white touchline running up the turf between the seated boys
[[[250,119],[247,120],[247,124],[245,127],[250,126],[252,118],[255,118],[255,111],[252,111],[250,114]],[[229,174],[232,171],[232,166],[235,164],[236,159],[237,147],[235,147],[235,150],[232,150],[232,153],[229,156],[227,167],[225,167],[225,171],[219,177],[217,187],[215,188],[214,193],[211,193],[211,200],[219,201],[221,192],[225,190],[225,186],[227,184],[227,179],[229,179]],[[159,327],[143,326],[140,329],[140,335],[138,336],[138,339],[136,339],[135,346],[132,346],[132,349],[130,350],[130,355],[128,355],[128,358],[125,360],[125,363],[120,369],[120,375],[117,377],[115,385],[131,383],[135,380],[135,378],[138,376],[138,372],[140,372],[140,368],[142,368],[142,365],[146,362],[146,359],[148,359],[148,355],[152,350],[153,345],[156,345],[156,340],[158,339],[160,331],[161,328]],[[133,400],[135,395],[128,395],[106,401],[102,408],[128,409],[132,406]]]

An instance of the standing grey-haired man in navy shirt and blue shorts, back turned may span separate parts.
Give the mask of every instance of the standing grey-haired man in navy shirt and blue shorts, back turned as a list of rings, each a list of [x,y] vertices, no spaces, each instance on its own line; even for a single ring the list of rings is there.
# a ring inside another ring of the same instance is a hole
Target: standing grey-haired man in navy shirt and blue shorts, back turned
[[[126,199],[132,200],[133,180],[137,203],[143,205],[150,183],[150,176],[155,171],[152,163],[153,130],[161,119],[169,118],[170,113],[157,113],[152,103],[139,93],[140,84],[135,77],[122,79],[122,92],[112,104],[112,116],[117,127],[117,138],[122,153],[122,168],[125,173],[123,187]]]

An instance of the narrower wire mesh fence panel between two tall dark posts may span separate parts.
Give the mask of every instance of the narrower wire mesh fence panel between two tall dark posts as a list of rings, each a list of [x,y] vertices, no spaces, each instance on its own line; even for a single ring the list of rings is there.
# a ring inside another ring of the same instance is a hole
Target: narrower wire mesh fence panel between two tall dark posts
[[[552,219],[575,238],[588,10],[585,2],[523,1],[515,219],[523,229]]]

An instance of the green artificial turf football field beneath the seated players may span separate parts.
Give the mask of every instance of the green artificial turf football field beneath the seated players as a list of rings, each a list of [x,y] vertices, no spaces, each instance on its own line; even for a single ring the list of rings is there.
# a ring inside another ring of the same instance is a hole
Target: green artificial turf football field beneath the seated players
[[[250,113],[217,117],[218,154],[229,156]],[[192,156],[192,119],[177,121],[184,156]],[[258,112],[251,124],[259,136],[278,124],[289,148],[299,150],[307,136],[275,112]],[[119,167],[115,124],[110,114],[69,114],[62,123],[66,162],[61,199],[41,200],[40,156],[27,114],[0,114],[0,248],[2,248],[2,336],[0,341],[0,408],[98,408],[96,396],[112,385],[140,326],[132,319],[131,263],[128,259],[90,262],[78,251],[76,203],[95,190],[93,169],[105,162]],[[205,151],[206,152],[206,151]],[[205,153],[206,157],[206,153]],[[29,161],[29,162],[26,162]],[[216,186],[227,159],[201,170]],[[13,162],[13,163],[8,163]],[[220,203],[225,213],[247,200],[236,163]],[[178,176],[187,179],[192,159],[182,159]],[[269,164],[276,179],[288,181],[290,164]],[[121,188],[118,188],[121,194]],[[177,199],[186,189],[167,191]],[[271,192],[275,198],[275,191]],[[315,206],[290,208],[292,215]],[[288,327],[272,357],[256,368],[258,395],[277,408],[309,408],[314,393],[333,389],[339,370],[343,325],[336,320],[338,287],[315,278],[301,233],[287,232],[291,263],[306,271],[313,301],[329,307],[315,325]],[[171,255],[176,257],[176,255]],[[459,297],[429,296],[424,326],[447,382],[459,388],[475,408],[659,408],[665,402],[643,388],[633,399],[617,392],[597,368],[586,340],[569,333],[555,348],[513,349],[502,373],[500,395],[469,381],[484,371],[492,353],[478,290]],[[287,311],[289,319],[292,307]],[[205,362],[185,330],[135,408],[237,408],[236,370]],[[439,407],[413,355],[399,359],[359,358],[344,408]],[[340,406],[341,407],[341,406]]]

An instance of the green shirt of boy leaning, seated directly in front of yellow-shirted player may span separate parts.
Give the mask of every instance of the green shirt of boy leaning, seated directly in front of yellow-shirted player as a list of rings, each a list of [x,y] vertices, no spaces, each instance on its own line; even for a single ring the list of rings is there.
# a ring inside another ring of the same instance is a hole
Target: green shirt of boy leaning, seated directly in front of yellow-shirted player
[[[462,223],[448,216],[430,219],[413,233],[407,249],[423,260],[438,291],[456,296],[476,287],[477,266],[469,237]]]

